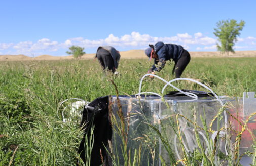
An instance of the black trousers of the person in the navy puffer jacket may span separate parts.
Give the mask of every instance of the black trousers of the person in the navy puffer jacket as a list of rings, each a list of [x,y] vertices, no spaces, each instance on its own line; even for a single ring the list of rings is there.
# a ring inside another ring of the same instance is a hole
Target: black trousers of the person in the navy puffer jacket
[[[190,54],[187,50],[183,50],[181,57],[179,58],[179,60],[177,60],[177,62],[175,62],[175,65],[172,70],[172,73],[175,73],[175,78],[179,78],[181,76],[182,72],[185,70],[189,62]]]

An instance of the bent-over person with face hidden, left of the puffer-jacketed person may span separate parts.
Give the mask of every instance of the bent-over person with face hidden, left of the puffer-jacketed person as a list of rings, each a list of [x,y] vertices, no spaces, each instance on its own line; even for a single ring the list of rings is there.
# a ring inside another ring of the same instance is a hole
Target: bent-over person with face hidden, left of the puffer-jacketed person
[[[107,69],[117,73],[120,53],[112,46],[100,46],[97,49],[96,56],[103,70]]]

